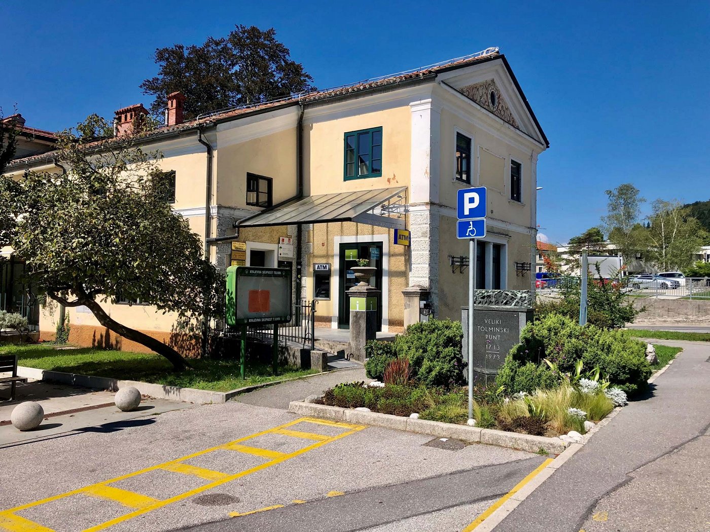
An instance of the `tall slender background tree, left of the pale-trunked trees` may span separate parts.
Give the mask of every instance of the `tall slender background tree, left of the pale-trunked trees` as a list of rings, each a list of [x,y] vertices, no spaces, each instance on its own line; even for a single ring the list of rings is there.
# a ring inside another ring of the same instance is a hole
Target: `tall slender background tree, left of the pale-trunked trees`
[[[604,233],[627,263],[645,248],[645,231],[639,217],[641,204],[646,200],[638,193],[639,190],[630,183],[607,190],[608,214],[601,218]]]

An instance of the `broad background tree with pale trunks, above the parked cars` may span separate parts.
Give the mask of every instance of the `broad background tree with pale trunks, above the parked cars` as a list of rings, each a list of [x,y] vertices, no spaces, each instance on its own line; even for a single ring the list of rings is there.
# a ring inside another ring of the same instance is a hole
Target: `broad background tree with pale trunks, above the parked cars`
[[[657,199],[652,203],[648,253],[662,271],[688,267],[703,243],[703,229],[678,201]]]

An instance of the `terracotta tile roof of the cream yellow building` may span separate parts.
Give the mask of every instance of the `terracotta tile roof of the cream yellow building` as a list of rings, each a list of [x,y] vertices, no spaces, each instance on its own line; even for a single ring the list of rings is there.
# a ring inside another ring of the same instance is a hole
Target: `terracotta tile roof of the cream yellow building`
[[[392,74],[392,75],[383,76],[383,77],[379,77],[379,78],[375,78],[375,79],[366,79],[361,82],[356,82],[354,84],[344,85],[342,87],[336,87],[334,89],[309,92],[306,94],[295,94],[295,95],[287,96],[283,99],[278,99],[278,100],[274,100],[274,101],[266,101],[262,104],[254,104],[251,106],[243,106],[243,107],[234,108],[234,109],[225,109],[225,110],[215,111],[213,113],[209,113],[204,116],[202,116],[202,115],[197,116],[197,118],[195,118],[194,120],[186,121],[186,122],[183,122],[183,123],[178,124],[176,126],[169,126],[169,127],[160,126],[159,128],[156,128],[153,131],[145,133],[143,136],[145,136],[146,138],[150,138],[154,135],[161,135],[161,134],[165,134],[165,133],[172,133],[172,132],[176,132],[176,131],[187,130],[190,128],[197,128],[198,126],[202,126],[207,123],[212,123],[215,121],[229,120],[230,118],[236,118],[238,116],[245,115],[248,113],[253,113],[255,111],[265,111],[267,109],[275,109],[275,108],[282,107],[282,106],[294,105],[294,104],[297,104],[298,102],[312,102],[312,101],[318,101],[321,99],[332,98],[333,96],[346,96],[348,94],[366,91],[368,89],[373,89],[376,87],[386,87],[387,85],[397,84],[397,83],[400,83],[403,81],[408,81],[410,79],[427,77],[430,74],[437,74],[437,72],[442,72],[443,70],[466,67],[466,66],[471,65],[475,62],[479,62],[481,60],[491,60],[494,57],[499,57],[499,56],[502,57],[501,54],[498,52],[498,48],[487,48],[486,50],[484,50],[482,52],[478,52],[473,55],[466,55],[464,57],[459,57],[454,60],[440,62],[435,65],[422,67],[419,70],[400,72],[398,74]],[[126,107],[124,109],[119,109],[119,111],[116,111],[116,113],[127,111],[129,109],[136,108],[137,106],[138,105]],[[141,106],[142,106],[142,104],[141,104]],[[116,140],[118,140],[118,138],[116,138]],[[89,143],[89,144],[87,144],[87,148],[94,146],[94,145],[99,145],[102,142],[106,142],[106,140],[97,140],[97,142],[95,142],[95,143]],[[12,167],[12,166],[17,166],[17,165],[25,165],[25,164],[33,162],[35,160],[43,160],[48,157],[52,157],[54,153],[55,152],[43,153],[41,155],[33,155],[32,157],[26,157],[24,159],[13,160],[11,162],[11,164],[8,166]]]

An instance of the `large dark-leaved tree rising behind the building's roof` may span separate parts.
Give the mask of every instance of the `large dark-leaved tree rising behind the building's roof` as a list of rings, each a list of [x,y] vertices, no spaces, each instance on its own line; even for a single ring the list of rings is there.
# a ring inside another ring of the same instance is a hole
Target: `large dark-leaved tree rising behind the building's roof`
[[[209,37],[202,45],[182,44],[155,50],[158,75],[143,80],[143,94],[155,96],[151,112],[161,116],[167,96],[181,91],[185,119],[228,107],[256,104],[315,89],[303,65],[275,38],[276,31],[238,25],[226,38]]]

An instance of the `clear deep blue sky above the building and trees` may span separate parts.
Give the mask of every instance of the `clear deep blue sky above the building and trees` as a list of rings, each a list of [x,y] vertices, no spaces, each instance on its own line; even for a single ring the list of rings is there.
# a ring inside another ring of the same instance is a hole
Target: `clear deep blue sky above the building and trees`
[[[498,46],[550,139],[538,223],[553,243],[598,224],[604,190],[624,182],[648,200],[710,199],[707,1],[347,5],[2,2],[0,106],[50,131],[147,106],[138,85],[155,75],[155,48],[236,23],[276,28],[319,88]]]

